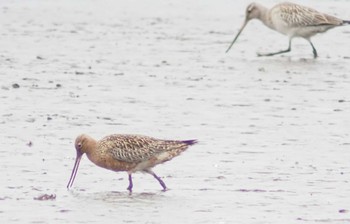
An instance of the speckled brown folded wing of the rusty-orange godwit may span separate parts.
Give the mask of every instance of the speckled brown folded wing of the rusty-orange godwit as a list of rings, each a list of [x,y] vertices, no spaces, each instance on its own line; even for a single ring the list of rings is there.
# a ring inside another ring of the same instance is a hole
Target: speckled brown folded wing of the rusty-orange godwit
[[[111,156],[125,162],[141,162],[169,149],[169,141],[139,135],[110,135],[100,140]]]

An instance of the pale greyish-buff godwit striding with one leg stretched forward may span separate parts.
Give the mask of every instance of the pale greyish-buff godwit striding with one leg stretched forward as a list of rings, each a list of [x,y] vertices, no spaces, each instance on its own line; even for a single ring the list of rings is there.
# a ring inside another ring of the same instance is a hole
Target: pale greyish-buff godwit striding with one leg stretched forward
[[[317,51],[310,38],[331,28],[350,24],[350,21],[348,20],[338,19],[334,16],[318,12],[312,8],[289,2],[277,4],[271,9],[267,9],[258,3],[251,3],[246,9],[245,21],[241,29],[238,31],[238,34],[233,39],[226,52],[231,49],[238,36],[251,19],[258,19],[267,27],[289,37],[289,45],[286,50],[267,54],[258,53],[258,56],[272,56],[289,52],[291,50],[292,39],[294,37],[302,37],[310,43],[314,58],[316,58]]]

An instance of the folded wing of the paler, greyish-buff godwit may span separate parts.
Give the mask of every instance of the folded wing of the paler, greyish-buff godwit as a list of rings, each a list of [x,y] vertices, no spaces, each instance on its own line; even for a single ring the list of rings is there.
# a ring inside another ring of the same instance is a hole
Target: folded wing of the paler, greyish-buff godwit
[[[290,27],[319,25],[338,26],[343,22],[343,20],[334,16],[293,3],[282,3],[278,5],[278,7],[276,6],[275,10],[278,11],[281,19]]]

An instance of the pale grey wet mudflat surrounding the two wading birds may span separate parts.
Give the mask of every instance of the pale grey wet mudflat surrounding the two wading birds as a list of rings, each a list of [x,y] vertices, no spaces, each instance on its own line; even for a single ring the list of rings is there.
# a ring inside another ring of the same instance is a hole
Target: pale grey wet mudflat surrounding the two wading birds
[[[350,223],[350,27],[259,58],[287,38],[254,21],[225,54],[246,5],[2,1],[1,222]],[[86,157],[67,191],[81,133],[200,143],[154,169],[167,192]]]

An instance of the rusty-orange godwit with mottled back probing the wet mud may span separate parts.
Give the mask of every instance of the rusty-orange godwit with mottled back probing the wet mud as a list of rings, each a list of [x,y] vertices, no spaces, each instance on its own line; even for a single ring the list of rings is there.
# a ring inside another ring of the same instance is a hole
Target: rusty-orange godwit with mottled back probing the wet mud
[[[178,156],[196,140],[175,141],[160,140],[141,135],[109,135],[96,141],[86,134],[75,140],[77,157],[67,188],[73,185],[80,159],[84,153],[97,166],[112,170],[126,171],[129,175],[128,190],[132,192],[131,174],[142,171],[151,174],[158,180],[165,191],[164,182],[153,171],[152,167]]]

